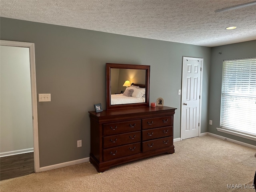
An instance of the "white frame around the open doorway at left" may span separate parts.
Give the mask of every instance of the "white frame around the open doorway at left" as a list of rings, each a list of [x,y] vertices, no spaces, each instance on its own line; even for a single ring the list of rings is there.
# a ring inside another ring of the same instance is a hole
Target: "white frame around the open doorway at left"
[[[31,98],[32,98],[32,120],[33,120],[33,142],[34,142],[34,170],[39,172],[39,142],[38,142],[38,116],[36,98],[36,62],[34,43],[0,40],[2,46],[26,47],[29,48]]]

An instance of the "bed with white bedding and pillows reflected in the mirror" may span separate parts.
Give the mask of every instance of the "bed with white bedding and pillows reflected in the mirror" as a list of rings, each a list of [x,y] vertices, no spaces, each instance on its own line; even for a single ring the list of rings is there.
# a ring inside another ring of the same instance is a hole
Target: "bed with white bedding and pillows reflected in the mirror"
[[[129,91],[131,90],[132,91]],[[130,103],[144,103],[145,102],[145,84],[132,83],[130,87],[126,88],[124,94],[112,94],[111,105],[116,104],[130,104]]]

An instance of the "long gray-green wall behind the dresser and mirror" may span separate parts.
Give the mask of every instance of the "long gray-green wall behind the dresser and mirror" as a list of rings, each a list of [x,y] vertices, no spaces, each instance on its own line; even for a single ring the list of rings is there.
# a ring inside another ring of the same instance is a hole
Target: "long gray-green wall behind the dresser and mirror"
[[[178,108],[179,138],[182,56],[204,58],[201,132],[208,131],[211,48],[9,18],[0,18],[0,35],[35,43],[37,93],[51,94],[51,102],[38,102],[40,167],[89,157],[88,111],[96,103],[106,109],[107,62],[150,65],[149,102],[162,97],[165,106]]]

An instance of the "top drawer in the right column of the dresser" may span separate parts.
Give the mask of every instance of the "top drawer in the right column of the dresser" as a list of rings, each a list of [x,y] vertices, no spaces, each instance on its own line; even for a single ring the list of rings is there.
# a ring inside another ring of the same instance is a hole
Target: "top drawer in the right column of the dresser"
[[[142,119],[142,129],[172,126],[172,120],[173,120],[172,118],[173,116],[164,116],[164,117]]]

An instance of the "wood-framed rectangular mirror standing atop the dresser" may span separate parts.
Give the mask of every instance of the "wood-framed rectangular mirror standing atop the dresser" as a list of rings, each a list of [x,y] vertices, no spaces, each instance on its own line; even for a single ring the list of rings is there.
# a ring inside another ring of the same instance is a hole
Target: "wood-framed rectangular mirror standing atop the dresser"
[[[107,110],[149,106],[149,78],[149,65],[106,63]]]

